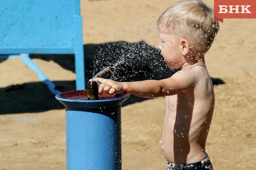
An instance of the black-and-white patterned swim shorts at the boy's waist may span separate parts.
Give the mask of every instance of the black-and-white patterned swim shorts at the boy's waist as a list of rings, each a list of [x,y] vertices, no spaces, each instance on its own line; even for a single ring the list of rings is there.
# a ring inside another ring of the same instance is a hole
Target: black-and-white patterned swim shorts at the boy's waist
[[[167,170],[213,170],[210,158],[207,157],[196,163],[172,164],[167,162]]]

